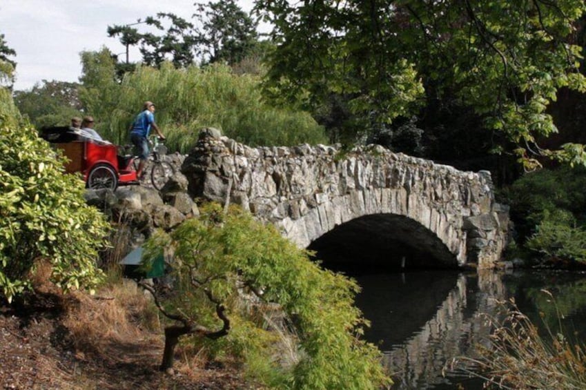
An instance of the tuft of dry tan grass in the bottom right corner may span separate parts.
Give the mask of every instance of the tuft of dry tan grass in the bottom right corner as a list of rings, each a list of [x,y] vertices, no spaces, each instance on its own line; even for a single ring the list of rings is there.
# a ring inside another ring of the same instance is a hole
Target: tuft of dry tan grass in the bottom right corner
[[[543,292],[555,303],[549,291]],[[549,329],[544,338],[513,301],[502,305],[506,310],[504,319],[490,318],[495,330],[487,344],[478,347],[480,358],[458,360],[476,369],[460,369],[498,389],[586,389],[583,346],[571,344],[562,334],[553,334]]]

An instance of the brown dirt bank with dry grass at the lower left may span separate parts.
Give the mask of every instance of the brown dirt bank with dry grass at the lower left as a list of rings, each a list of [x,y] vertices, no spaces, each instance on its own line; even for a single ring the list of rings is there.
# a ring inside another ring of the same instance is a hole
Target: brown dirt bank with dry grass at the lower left
[[[180,348],[175,373],[159,371],[162,331],[144,329],[130,311],[122,314],[128,324],[113,324],[125,321],[113,314],[116,300],[37,295],[24,305],[0,302],[0,389],[254,388],[236,369],[197,367]]]

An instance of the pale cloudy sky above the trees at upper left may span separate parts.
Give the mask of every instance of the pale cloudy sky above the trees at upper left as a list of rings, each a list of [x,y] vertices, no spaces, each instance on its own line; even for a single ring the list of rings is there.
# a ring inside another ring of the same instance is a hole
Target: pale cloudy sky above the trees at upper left
[[[202,0],[197,0],[202,2]],[[253,0],[240,0],[243,10]],[[191,21],[196,0],[0,0],[0,34],[17,52],[14,90],[30,90],[42,80],[79,81],[79,53],[106,46],[122,55],[126,48],[109,38],[108,26],[170,12]],[[138,50],[130,61],[139,61]]]

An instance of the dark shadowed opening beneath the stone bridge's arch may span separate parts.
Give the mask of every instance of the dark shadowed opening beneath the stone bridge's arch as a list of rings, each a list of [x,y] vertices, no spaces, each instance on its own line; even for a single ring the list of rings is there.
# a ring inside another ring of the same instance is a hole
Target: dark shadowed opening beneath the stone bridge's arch
[[[404,215],[363,215],[309,244],[331,269],[454,269],[458,259],[436,232]]]

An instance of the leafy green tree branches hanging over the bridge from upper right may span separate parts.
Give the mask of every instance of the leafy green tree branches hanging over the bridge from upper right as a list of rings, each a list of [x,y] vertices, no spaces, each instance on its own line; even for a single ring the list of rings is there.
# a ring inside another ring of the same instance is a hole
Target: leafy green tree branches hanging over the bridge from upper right
[[[453,97],[516,145],[586,164],[582,145],[543,150],[560,88],[584,92],[576,45],[583,0],[257,0],[277,48],[271,88],[313,108],[343,97],[365,125]]]

